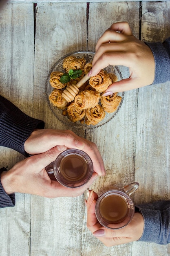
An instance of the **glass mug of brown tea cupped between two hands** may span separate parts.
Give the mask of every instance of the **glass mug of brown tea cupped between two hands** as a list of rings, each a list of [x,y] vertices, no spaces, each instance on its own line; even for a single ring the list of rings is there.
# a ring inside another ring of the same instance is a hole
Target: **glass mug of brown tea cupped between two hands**
[[[86,184],[93,174],[93,162],[82,150],[67,149],[54,162],[45,167],[49,176],[68,188],[78,188]]]

